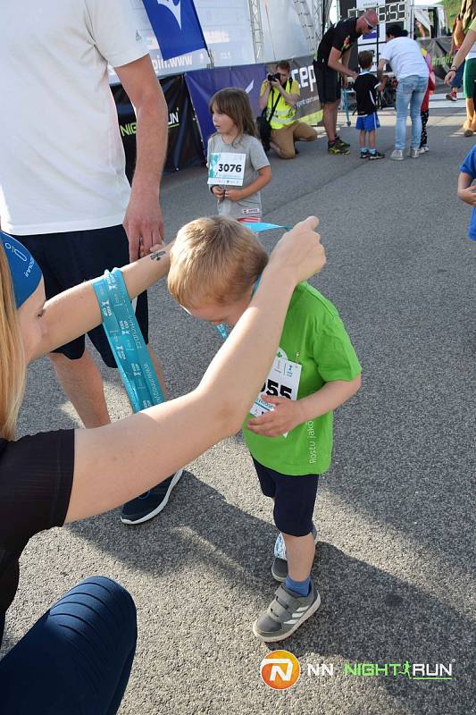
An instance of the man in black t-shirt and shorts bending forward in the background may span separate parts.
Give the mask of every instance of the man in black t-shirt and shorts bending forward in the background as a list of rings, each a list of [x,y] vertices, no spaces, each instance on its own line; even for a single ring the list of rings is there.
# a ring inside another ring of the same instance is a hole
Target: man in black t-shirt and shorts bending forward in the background
[[[374,32],[378,23],[374,10],[368,10],[359,18],[341,20],[330,26],[317,48],[313,65],[330,154],[349,154],[350,145],[337,133],[341,78],[344,85],[347,77],[355,80],[356,72],[348,68],[350,49],[359,37]]]

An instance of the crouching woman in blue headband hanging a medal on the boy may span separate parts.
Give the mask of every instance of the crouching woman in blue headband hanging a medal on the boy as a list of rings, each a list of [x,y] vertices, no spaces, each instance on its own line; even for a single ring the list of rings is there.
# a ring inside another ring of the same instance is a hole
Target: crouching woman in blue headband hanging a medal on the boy
[[[276,354],[296,284],[325,264],[317,223],[312,216],[280,240],[250,307],[195,391],[113,425],[17,441],[26,366],[101,324],[102,307],[92,282],[46,301],[35,259],[0,231],[0,642],[21,552],[34,534],[120,506],[240,429]],[[169,247],[162,246],[123,267],[129,298],[168,270]],[[113,715],[136,638],[129,593],[108,578],[88,578],[0,661],[2,712]]]

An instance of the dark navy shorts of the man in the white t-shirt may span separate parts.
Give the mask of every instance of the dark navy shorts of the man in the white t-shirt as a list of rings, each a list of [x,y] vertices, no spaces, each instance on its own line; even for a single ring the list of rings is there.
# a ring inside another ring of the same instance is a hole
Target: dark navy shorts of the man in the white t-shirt
[[[129,263],[129,241],[122,226],[111,226],[93,231],[41,233],[34,236],[15,236],[29,249],[43,271],[46,299],[79,283],[97,278],[107,269],[121,268]],[[146,343],[148,336],[147,294],[141,293],[136,304],[136,317]],[[104,328],[99,325],[88,332],[89,339],[101,354],[105,365],[116,367],[116,361]],[[54,352],[70,360],[82,357],[85,336],[81,335]]]

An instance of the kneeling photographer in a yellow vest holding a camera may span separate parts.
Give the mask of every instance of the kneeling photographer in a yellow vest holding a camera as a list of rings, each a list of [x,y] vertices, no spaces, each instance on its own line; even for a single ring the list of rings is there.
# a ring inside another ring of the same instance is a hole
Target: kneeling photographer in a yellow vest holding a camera
[[[260,110],[266,110],[260,123],[263,147],[266,150],[269,148],[266,146],[266,130],[269,132],[271,129],[269,146],[281,159],[293,159],[296,156],[296,141],[317,139],[317,132],[312,127],[296,120],[296,104],[301,96],[301,88],[290,73],[290,64],[280,62],[276,73],[268,74],[263,81],[258,103]]]

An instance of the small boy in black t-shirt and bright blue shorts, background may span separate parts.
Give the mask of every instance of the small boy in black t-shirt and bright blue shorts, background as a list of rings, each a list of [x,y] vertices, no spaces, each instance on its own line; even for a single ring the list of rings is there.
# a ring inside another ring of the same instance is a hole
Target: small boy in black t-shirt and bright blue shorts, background
[[[375,148],[375,131],[379,129],[380,122],[377,114],[377,92],[383,89],[385,79],[380,82],[371,72],[373,54],[369,51],[359,52],[359,67],[361,73],[354,83],[355,98],[357,100],[357,122],[355,129],[360,130],[360,158],[383,159],[385,154],[380,154]],[[368,139],[368,141],[367,141]],[[368,145],[368,146],[367,146]]]

